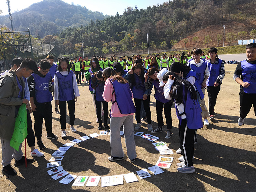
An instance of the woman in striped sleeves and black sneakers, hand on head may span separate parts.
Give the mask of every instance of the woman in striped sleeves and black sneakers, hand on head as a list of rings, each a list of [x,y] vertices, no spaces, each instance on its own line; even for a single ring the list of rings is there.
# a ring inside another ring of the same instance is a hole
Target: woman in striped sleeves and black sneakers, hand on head
[[[171,116],[171,101],[168,99],[165,99],[165,96],[163,95],[163,82],[160,82],[162,80],[162,76],[168,72],[168,69],[164,68],[160,72],[157,68],[150,68],[147,71],[147,75],[150,77],[149,80],[147,80],[147,77],[145,78],[145,88],[148,89],[153,84],[155,86],[155,94],[154,97],[156,99],[156,116],[157,116],[157,128],[152,130],[151,133],[160,133],[162,132],[162,126],[163,123],[163,106],[165,108],[165,120],[166,120],[166,128],[167,133],[165,138],[169,139],[171,138],[171,129],[172,129],[172,116]],[[152,87],[151,87],[152,88]]]

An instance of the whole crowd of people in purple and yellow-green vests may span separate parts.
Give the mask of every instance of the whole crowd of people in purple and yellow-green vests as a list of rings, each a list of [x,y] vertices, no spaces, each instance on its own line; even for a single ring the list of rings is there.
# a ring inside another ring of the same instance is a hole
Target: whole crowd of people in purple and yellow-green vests
[[[254,106],[256,115],[256,43],[246,46],[247,59],[238,63],[234,80],[240,86],[240,118],[238,125]],[[166,139],[170,139],[172,130],[171,106],[175,103],[179,119],[180,146],[176,153],[181,154],[177,170],[181,173],[193,173],[194,144],[197,143],[196,131],[214,119],[214,107],[225,76],[225,61],[217,56],[217,49],[209,49],[204,56],[200,48],[195,48],[185,55],[160,56],[114,55],[109,60],[105,56],[57,58],[48,55],[40,61],[40,66],[33,59],[15,58],[12,68],[0,77],[0,139],[2,144],[3,174],[16,175],[11,166],[14,157],[15,166],[25,164],[21,150],[10,146],[14,131],[14,122],[22,103],[27,108],[27,141],[31,156],[41,157],[45,146],[42,141],[43,120],[47,132],[46,138],[58,139],[52,132],[52,100],[55,112],[60,114],[61,137],[67,137],[66,116],[69,111],[70,131],[76,132],[75,102],[80,96],[78,84],[89,83],[89,91],[96,112],[98,129],[110,129],[111,156],[109,161],[123,160],[120,127],[123,127],[127,156],[131,162],[136,160],[134,130],[139,130],[141,121],[147,121],[148,131],[153,134],[163,132],[163,113],[166,120]],[[82,75],[82,77],[81,77]],[[150,95],[154,87],[156,100],[157,127],[151,123]],[[209,106],[204,100],[205,89],[208,93]],[[53,95],[52,95],[53,93]],[[133,102],[134,99],[134,102]],[[110,125],[108,125],[108,102],[111,101]],[[124,105],[125,103],[125,105]],[[31,105],[31,106],[30,106]],[[59,107],[59,109],[58,109]],[[163,112],[164,108],[164,112]],[[34,116],[34,131],[30,114]],[[135,127],[133,115],[135,113]],[[103,122],[102,122],[103,116]],[[35,138],[38,149],[35,149]],[[27,159],[33,163],[34,159]]]

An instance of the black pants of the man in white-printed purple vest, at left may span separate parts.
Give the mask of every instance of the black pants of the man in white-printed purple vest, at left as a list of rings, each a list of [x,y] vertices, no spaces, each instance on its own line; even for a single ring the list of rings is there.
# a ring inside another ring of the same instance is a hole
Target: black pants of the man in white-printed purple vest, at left
[[[47,103],[35,103],[37,106],[37,110],[33,111],[34,119],[35,119],[35,124],[34,124],[34,129],[35,129],[35,137],[37,140],[42,139],[42,130],[43,130],[43,120],[45,122],[45,128],[47,131],[47,134],[52,133],[52,127],[53,127],[53,122],[52,122],[52,104],[51,102]]]

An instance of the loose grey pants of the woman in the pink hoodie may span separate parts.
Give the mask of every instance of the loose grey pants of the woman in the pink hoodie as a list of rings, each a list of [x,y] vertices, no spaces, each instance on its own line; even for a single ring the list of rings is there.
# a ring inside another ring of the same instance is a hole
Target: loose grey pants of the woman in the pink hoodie
[[[127,156],[129,159],[136,158],[135,140],[133,132],[133,115],[110,118],[110,147],[112,157],[124,157],[121,143],[120,127],[123,124]]]

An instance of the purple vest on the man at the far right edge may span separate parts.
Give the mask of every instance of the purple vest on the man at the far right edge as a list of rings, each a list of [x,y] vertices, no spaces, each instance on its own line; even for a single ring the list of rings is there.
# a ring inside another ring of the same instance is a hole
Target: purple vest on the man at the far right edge
[[[256,93],[256,64],[241,61],[243,82],[250,83],[250,86],[243,87],[245,93]]]

